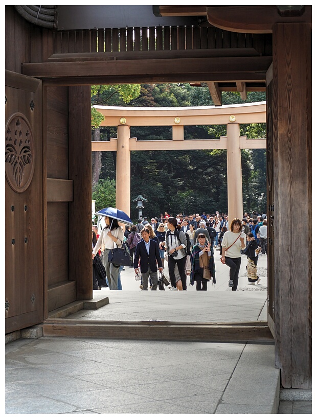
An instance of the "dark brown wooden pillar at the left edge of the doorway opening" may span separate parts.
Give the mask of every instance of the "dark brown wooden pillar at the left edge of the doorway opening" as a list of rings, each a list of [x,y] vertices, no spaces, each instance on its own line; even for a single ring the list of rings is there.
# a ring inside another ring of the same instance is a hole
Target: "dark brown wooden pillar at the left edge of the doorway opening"
[[[92,127],[90,86],[69,87],[69,278],[77,300],[93,298]]]

